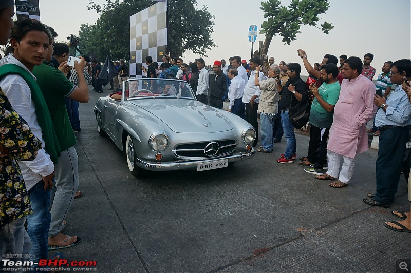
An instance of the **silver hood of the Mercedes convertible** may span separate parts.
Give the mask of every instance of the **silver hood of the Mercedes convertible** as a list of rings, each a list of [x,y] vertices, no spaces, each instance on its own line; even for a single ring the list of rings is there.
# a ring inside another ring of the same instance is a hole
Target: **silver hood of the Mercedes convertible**
[[[219,109],[201,102],[177,98],[138,99],[143,108],[177,133],[214,133],[232,130],[231,122]]]

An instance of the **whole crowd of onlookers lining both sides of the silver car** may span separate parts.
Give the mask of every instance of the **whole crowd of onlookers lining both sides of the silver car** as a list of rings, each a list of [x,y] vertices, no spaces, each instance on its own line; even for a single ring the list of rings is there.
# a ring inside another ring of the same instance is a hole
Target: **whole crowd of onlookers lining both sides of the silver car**
[[[89,100],[87,80],[94,83],[96,92],[102,92],[101,66],[96,60],[88,66],[87,56],[82,56],[69,67],[69,48],[54,43],[53,28],[29,18],[13,24],[13,15],[13,0],[0,3],[0,44],[9,37],[11,44],[10,54],[0,61],[0,253],[29,253],[29,259],[38,262],[48,258],[48,250],[81,241],[62,231],[79,193],[74,148],[74,132],[80,131],[78,103]],[[229,65],[216,60],[210,75],[201,57],[186,64],[181,58],[170,63],[166,56],[158,66],[149,56],[144,73],[150,78],[184,80],[198,101],[216,108],[222,109],[229,100],[228,111],[254,127],[253,147],[261,134],[258,152],[271,153],[285,134],[286,149],[277,159],[282,164],[297,158],[290,112],[309,105],[308,154],[298,164],[316,179],[331,181],[334,188],[350,182],[357,154],[368,149],[366,123],[375,119],[372,132],[379,136],[376,192],[368,193],[363,201],[389,207],[397,192],[411,125],[411,60],[385,62],[373,84],[376,69],[370,65],[370,53],[363,61],[326,54],[314,66],[304,50],[297,53],[310,75],[307,82],[300,77],[300,64],[282,61],[277,65],[274,57],[264,61],[252,57],[247,63],[233,56]],[[110,89],[121,86],[129,76],[124,60],[115,66],[118,77]],[[409,212],[392,213],[403,220],[386,222],[386,227],[411,232]]]

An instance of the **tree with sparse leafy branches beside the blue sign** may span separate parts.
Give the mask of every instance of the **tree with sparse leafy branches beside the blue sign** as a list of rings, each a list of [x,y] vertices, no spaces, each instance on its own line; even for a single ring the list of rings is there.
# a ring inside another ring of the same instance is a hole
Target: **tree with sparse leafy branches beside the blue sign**
[[[283,37],[285,44],[290,44],[291,41],[296,40],[297,34],[300,32],[300,26],[310,25],[317,27],[320,14],[325,13],[329,7],[327,0],[291,0],[287,9],[280,6],[279,0],[268,0],[261,2],[261,9],[264,11],[264,18],[266,21],[261,25],[261,34],[265,34],[263,49],[260,52],[260,58],[267,55],[273,36],[279,34]],[[328,22],[321,24],[321,30],[328,34],[332,26]],[[319,28],[320,29],[320,28]]]

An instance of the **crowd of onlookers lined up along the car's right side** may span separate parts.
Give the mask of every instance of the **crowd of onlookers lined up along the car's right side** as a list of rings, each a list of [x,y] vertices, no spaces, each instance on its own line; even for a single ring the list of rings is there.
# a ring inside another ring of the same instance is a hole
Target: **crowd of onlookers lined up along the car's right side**
[[[307,81],[301,79],[300,64],[281,61],[277,65],[274,57],[264,61],[252,57],[247,63],[240,56],[233,56],[229,65],[225,59],[216,60],[210,75],[201,57],[189,65],[181,58],[171,59],[170,63],[167,56],[159,73],[152,67],[152,58],[147,57],[148,68],[144,72],[147,77],[159,74],[158,77],[187,81],[198,101],[216,108],[222,109],[228,99],[228,111],[254,127],[253,147],[257,146],[260,133],[261,146],[257,152],[272,153],[274,143],[281,142],[284,134],[286,149],[277,159],[282,164],[297,159],[295,126],[290,115],[308,107],[308,154],[300,157],[298,165],[316,179],[329,180],[333,188],[348,186],[357,154],[368,149],[366,124],[374,120],[368,132],[379,136],[376,193],[367,194],[363,201],[371,206],[389,207],[397,192],[409,139],[411,61],[385,62],[374,84],[376,69],[371,66],[371,53],[366,53],[363,60],[345,54],[339,59],[325,54],[321,63],[314,65],[303,49],[298,49],[297,55],[309,74]],[[396,88],[391,90],[393,85]],[[411,232],[408,212],[393,214],[406,220],[387,222],[386,227]]]

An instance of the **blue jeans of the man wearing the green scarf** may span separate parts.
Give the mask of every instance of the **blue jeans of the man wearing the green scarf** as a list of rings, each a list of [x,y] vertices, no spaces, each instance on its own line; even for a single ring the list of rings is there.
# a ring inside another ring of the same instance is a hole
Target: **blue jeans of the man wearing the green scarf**
[[[32,257],[30,261],[38,262],[47,259],[48,252],[48,230],[50,228],[51,214],[50,191],[44,190],[44,181],[36,183],[29,191],[33,214],[27,216],[27,232],[31,239]]]

